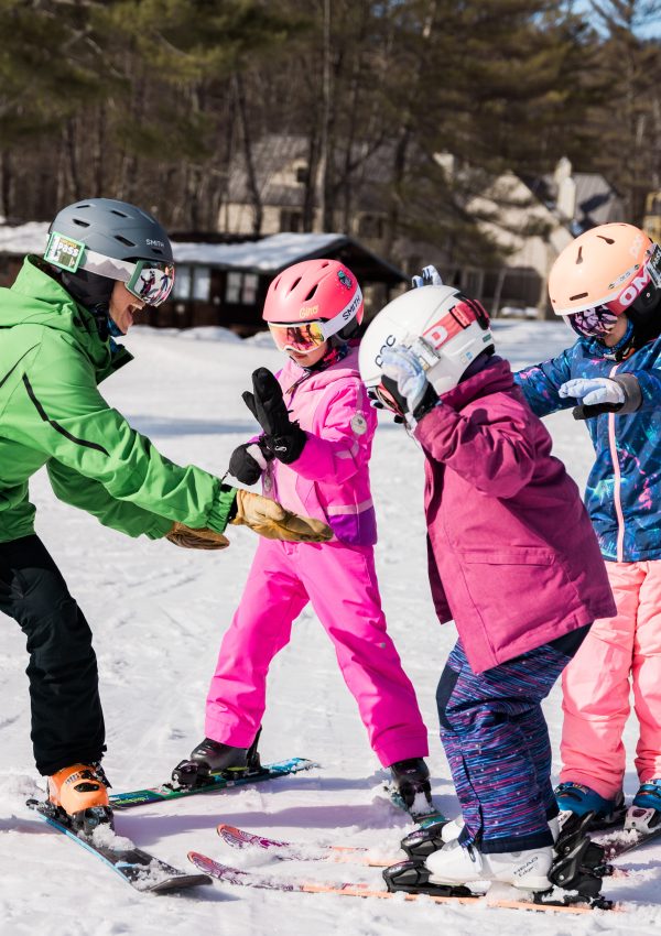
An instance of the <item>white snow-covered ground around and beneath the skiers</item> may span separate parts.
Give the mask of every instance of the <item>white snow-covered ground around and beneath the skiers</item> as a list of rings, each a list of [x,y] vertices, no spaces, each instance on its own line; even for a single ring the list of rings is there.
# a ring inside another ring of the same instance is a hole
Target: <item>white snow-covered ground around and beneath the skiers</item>
[[[562,325],[508,320],[496,324],[499,350],[514,367],[546,358],[570,340]],[[251,371],[277,368],[269,336],[239,341],[223,329],[188,334],[134,329],[127,339],[136,361],[104,385],[121,410],[173,460],[221,475],[232,448],[254,424],[240,392]],[[549,420],[555,454],[583,486],[590,464],[585,427],[563,413]],[[437,738],[435,686],[455,640],[440,628],[426,583],[422,512],[422,454],[402,429],[382,420],[372,457],[379,519],[377,558],[392,636],[411,676],[430,732],[430,765],[440,806],[453,815],[456,801]],[[166,542],[130,540],[57,502],[45,476],[32,485],[37,531],[59,564],[95,632],[108,730],[106,770],[116,790],[166,779],[203,737],[204,699],[220,635],[241,595],[253,535],[230,534],[223,553],[177,549]],[[567,531],[567,535],[571,535]],[[240,932],[337,933],[377,936],[447,933],[483,936],[528,928],[540,934],[652,934],[661,925],[661,846],[630,856],[628,878],[606,882],[616,900],[641,905],[625,914],[567,917],[516,911],[440,906],[425,899],[405,904],[282,894],[214,886],[185,895],[145,896],[35,819],[26,795],[39,780],[32,763],[26,657],[18,625],[0,616],[0,932],[31,936],[95,936]],[[545,706],[557,754],[561,725],[555,689]],[[626,792],[637,788],[632,766],[636,725],[626,734]],[[120,814],[117,830],[181,868],[191,849],[229,863],[241,859],[215,834],[219,821],[305,844],[342,841],[392,850],[411,828],[381,793],[386,773],[367,743],[354,699],[314,614],[305,611],[293,639],[277,657],[269,679],[262,759],[308,757],[321,770],[166,806]],[[557,766],[557,762],[555,763]],[[624,862],[624,859],[622,859]],[[243,863],[246,859],[243,858]],[[348,866],[280,864],[274,873],[379,885],[378,870]]]

